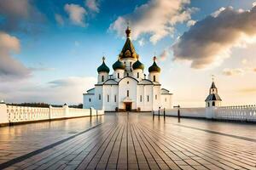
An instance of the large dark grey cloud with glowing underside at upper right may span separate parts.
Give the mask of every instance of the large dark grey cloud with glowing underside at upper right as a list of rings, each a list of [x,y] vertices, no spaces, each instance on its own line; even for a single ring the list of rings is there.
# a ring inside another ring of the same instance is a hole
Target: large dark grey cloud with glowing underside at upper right
[[[256,7],[242,11],[218,10],[197,21],[172,46],[174,59],[189,60],[195,69],[220,65],[234,47],[246,47],[256,40]]]

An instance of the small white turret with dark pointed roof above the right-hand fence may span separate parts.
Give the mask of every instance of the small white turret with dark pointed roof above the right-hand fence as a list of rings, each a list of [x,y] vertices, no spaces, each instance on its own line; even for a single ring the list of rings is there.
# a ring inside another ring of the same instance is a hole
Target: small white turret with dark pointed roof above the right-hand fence
[[[218,95],[218,88],[216,88],[215,83],[212,79],[212,86],[209,90],[209,95],[207,96],[206,101],[206,107],[214,107],[214,106],[221,106],[221,101],[219,95]]]

